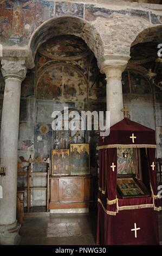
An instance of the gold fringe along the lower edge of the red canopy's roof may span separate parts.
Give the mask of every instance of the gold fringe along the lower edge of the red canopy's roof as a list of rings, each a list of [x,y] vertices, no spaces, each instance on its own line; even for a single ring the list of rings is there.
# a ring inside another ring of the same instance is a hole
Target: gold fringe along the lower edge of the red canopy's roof
[[[153,144],[111,144],[99,146],[99,149],[110,148],[157,148],[157,145]]]

